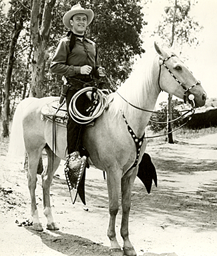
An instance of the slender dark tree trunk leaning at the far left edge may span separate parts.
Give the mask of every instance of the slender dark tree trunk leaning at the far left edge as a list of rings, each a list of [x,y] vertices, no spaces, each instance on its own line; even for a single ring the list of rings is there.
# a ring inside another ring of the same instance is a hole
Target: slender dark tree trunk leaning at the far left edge
[[[11,85],[11,74],[13,70],[13,63],[15,61],[14,52],[17,44],[17,39],[19,38],[19,34],[22,25],[16,25],[16,29],[13,32],[13,36],[11,38],[11,44],[9,49],[9,57],[7,61],[7,70],[5,74],[5,82],[4,82],[4,92],[3,92],[3,137],[9,137],[9,114],[10,114],[10,85]]]

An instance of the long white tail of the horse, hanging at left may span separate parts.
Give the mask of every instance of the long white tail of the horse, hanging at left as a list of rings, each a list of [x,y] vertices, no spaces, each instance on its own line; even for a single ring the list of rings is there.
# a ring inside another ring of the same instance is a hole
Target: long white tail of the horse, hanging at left
[[[10,134],[10,142],[9,149],[7,152],[7,157],[21,157],[25,155],[25,145],[23,139],[23,103],[21,101],[17,105],[17,109],[15,110],[13,116],[13,123],[11,126],[11,134]]]

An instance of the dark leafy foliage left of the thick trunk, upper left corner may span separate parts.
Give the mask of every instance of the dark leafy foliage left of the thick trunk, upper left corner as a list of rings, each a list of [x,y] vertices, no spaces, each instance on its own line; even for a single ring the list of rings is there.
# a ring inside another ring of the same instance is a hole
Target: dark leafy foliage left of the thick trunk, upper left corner
[[[13,73],[12,73],[11,82],[10,82],[11,83],[10,84],[10,101],[11,101],[11,109],[13,109],[15,99],[21,100],[21,95],[23,92],[23,84],[25,83],[24,74],[27,72],[25,56],[29,52],[29,48],[30,48],[29,40],[27,40],[27,35],[28,35],[27,21],[29,19],[29,14],[30,14],[29,1],[12,0],[10,1],[10,5],[7,6],[9,7],[7,12],[5,11],[5,5],[2,4],[2,1],[0,1],[0,6],[1,6],[0,7],[0,16],[1,16],[0,44],[2,49],[2,51],[0,51],[1,92],[3,91],[3,87],[4,87],[11,38],[13,37],[13,33],[15,31],[19,31],[19,29],[25,30],[25,33],[23,33],[22,37],[20,37],[21,40],[19,39],[17,44],[15,45],[15,49],[14,49],[15,52],[13,53],[13,59],[10,62],[10,65],[13,66]],[[5,88],[4,88],[4,91],[5,91]],[[3,99],[2,93],[0,97],[2,101]]]

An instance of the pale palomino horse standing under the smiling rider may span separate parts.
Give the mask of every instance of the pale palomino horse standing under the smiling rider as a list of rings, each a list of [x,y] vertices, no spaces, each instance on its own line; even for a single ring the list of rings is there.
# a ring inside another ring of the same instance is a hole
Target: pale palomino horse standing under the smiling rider
[[[122,251],[116,239],[118,198],[120,192],[122,193],[120,233],[124,240],[125,255],[136,255],[128,236],[128,218],[132,186],[138,173],[138,165],[133,168],[132,166],[137,158],[140,163],[146,149],[145,140],[143,143],[140,142],[139,150],[136,150],[135,143],[137,138],[144,136],[151,115],[144,109],[154,110],[161,90],[174,94],[180,99],[191,94],[190,99],[194,98],[194,100],[190,102],[194,102],[195,107],[202,107],[206,102],[206,93],[186,65],[170,52],[171,50],[162,50],[157,44],[155,44],[155,49],[158,54],[148,64],[148,68],[142,71],[142,78],[138,76],[136,79],[129,78],[118,88],[117,92],[110,94],[108,96],[109,107],[96,119],[95,125],[87,128],[83,135],[83,145],[89,151],[91,162],[107,174],[110,212],[107,235],[110,238],[112,251]],[[53,155],[51,150],[53,125],[51,121],[41,119],[40,112],[41,107],[53,99],[56,98],[29,98],[22,101],[17,107],[13,120],[15,129],[11,131],[11,140],[13,140],[18,139],[19,131],[23,129],[25,150],[29,158],[28,185],[31,195],[31,215],[33,216],[33,229],[36,231],[43,231],[35,202],[37,166],[43,149],[47,151],[48,157],[47,168],[41,175],[43,212],[47,217],[47,229],[58,229],[51,214],[49,190],[60,160],[65,159],[66,129],[61,126],[56,127],[56,151]],[[133,135],[130,131],[133,131]],[[20,151],[21,147],[18,148]]]

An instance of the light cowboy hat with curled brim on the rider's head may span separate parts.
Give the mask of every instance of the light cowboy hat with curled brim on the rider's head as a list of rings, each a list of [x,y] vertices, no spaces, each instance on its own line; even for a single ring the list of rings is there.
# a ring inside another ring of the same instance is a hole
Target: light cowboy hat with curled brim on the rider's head
[[[73,15],[78,13],[87,15],[87,25],[89,25],[93,20],[93,16],[94,16],[93,11],[91,9],[83,9],[81,5],[78,3],[77,5],[73,5],[70,11],[65,13],[65,15],[63,16],[63,24],[69,29],[71,29],[72,25],[70,24],[70,19]]]

